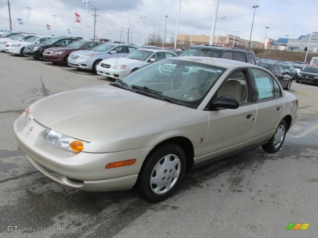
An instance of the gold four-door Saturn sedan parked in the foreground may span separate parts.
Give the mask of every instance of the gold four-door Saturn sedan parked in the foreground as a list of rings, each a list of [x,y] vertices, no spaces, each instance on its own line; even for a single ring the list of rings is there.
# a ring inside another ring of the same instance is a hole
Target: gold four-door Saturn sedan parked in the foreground
[[[183,56],[33,102],[14,131],[29,161],[60,184],[86,191],[135,186],[158,202],[186,169],[256,146],[279,151],[297,107],[267,69]]]

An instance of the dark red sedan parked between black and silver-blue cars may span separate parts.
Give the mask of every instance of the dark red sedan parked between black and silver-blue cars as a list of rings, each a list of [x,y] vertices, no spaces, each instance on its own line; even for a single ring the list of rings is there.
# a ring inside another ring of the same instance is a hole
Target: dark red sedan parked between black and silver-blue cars
[[[66,64],[70,53],[76,50],[90,50],[93,47],[103,44],[92,40],[79,40],[67,45],[66,47],[52,47],[43,52],[43,60],[52,63]]]

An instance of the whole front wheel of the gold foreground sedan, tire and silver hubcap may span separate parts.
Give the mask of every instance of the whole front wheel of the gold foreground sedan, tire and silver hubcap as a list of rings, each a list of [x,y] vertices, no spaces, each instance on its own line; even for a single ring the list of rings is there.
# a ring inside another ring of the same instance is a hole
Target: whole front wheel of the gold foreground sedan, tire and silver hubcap
[[[183,179],[186,156],[176,144],[159,147],[148,155],[138,175],[136,188],[142,198],[159,202],[176,190]]]

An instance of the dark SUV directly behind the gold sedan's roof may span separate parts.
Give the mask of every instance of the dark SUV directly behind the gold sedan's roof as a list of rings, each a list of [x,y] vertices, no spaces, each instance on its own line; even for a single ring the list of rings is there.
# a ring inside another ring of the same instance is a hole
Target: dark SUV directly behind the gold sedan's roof
[[[185,49],[179,56],[206,56],[256,64],[254,52],[248,49],[241,48],[195,45]]]

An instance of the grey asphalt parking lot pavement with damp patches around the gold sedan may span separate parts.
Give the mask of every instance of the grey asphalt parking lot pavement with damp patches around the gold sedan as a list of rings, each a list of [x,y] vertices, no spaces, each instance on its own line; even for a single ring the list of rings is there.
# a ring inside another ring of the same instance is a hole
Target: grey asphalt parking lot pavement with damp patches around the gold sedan
[[[185,175],[156,204],[134,190],[83,192],[42,175],[13,122],[29,103],[109,83],[103,76],[0,53],[0,237],[317,237],[318,87],[295,83],[298,118],[276,154],[260,147]],[[287,230],[290,223],[307,230]]]

